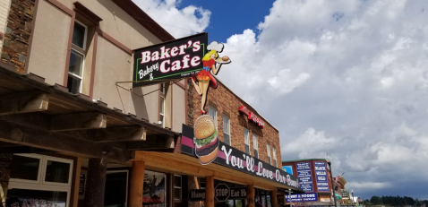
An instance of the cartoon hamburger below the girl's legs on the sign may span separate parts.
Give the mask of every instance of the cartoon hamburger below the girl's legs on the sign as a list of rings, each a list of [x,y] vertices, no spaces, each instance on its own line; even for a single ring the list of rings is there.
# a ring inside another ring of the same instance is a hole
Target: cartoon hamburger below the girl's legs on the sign
[[[218,136],[216,125],[211,116],[199,116],[194,123],[195,154],[202,165],[208,165],[216,160],[218,154]]]

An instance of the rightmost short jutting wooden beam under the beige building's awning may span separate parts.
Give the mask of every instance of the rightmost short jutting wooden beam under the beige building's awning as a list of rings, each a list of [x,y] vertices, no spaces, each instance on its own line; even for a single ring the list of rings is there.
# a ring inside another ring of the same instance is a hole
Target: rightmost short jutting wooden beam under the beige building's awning
[[[128,142],[129,151],[144,150],[172,150],[175,149],[174,136],[147,135],[145,142]]]

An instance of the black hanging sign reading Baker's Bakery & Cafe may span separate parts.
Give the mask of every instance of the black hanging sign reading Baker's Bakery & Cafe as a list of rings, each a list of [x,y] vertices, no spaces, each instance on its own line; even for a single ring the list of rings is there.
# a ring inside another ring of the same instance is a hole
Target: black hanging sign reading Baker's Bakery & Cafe
[[[202,70],[208,33],[175,39],[133,52],[133,87],[189,77]]]

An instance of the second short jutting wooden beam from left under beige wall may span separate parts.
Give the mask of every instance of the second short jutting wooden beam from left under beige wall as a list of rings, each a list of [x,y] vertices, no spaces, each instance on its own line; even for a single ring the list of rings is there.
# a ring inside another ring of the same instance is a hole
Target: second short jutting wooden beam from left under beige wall
[[[107,116],[99,112],[84,112],[52,116],[53,132],[106,128]]]

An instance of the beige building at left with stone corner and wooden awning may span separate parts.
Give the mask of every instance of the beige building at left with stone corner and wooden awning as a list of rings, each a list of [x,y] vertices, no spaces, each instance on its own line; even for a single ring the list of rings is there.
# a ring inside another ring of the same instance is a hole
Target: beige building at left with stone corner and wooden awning
[[[173,39],[131,0],[1,1],[0,201],[97,206],[133,151],[174,151],[185,81],[132,82],[133,49]]]

